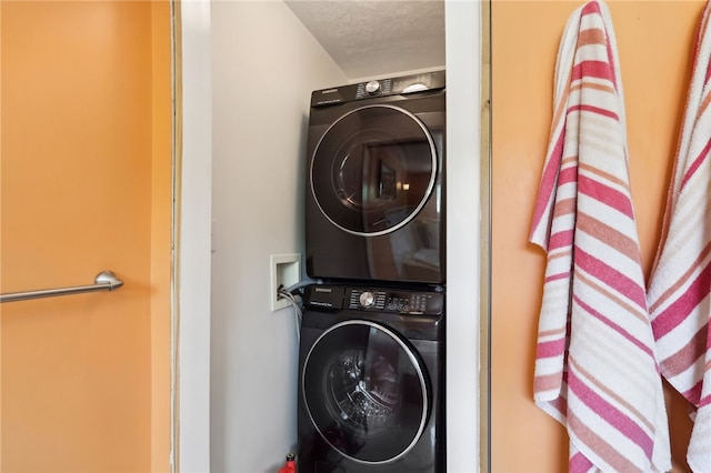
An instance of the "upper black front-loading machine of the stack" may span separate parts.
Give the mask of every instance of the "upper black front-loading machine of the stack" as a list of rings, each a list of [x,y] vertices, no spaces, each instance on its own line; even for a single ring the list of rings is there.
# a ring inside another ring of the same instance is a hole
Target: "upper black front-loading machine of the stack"
[[[311,95],[311,278],[444,283],[444,71]]]

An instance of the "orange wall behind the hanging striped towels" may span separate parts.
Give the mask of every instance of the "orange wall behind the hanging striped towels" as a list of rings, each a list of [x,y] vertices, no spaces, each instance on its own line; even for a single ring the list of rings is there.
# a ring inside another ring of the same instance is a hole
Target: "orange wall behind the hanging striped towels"
[[[493,472],[563,472],[563,427],[532,402],[544,270],[528,232],[551,124],[553,69],[580,2],[492,2]],[[690,79],[702,1],[608,1],[625,94],[631,187],[643,268],[651,270]],[[675,471],[685,471],[690,421],[668,391]]]

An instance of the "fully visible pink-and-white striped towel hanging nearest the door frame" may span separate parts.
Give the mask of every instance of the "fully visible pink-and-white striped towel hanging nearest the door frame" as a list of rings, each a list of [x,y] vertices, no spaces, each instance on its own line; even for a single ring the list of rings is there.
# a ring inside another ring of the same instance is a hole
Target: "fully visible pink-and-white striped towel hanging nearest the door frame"
[[[569,19],[531,228],[548,253],[534,400],[570,436],[571,472],[671,469],[630,198],[620,67],[607,6]]]

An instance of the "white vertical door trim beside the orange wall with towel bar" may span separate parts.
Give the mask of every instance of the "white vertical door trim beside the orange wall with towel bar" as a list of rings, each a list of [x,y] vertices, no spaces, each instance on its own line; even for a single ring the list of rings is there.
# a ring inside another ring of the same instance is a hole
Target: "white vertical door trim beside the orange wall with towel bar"
[[[182,155],[177,219],[177,298],[173,341],[178,345],[178,432],[173,462],[180,472],[210,471],[210,207],[212,103],[210,2],[180,2],[182,19]],[[176,335],[178,339],[176,340]],[[174,406],[173,406],[174,407]],[[173,435],[173,439],[176,435]]]

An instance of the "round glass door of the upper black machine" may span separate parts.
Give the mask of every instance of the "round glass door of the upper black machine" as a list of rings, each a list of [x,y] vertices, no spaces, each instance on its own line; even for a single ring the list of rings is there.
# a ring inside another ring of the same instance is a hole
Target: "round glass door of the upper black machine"
[[[438,171],[427,127],[393,105],[367,105],[337,120],[311,160],[311,191],[341,230],[375,236],[405,225],[427,203]]]

